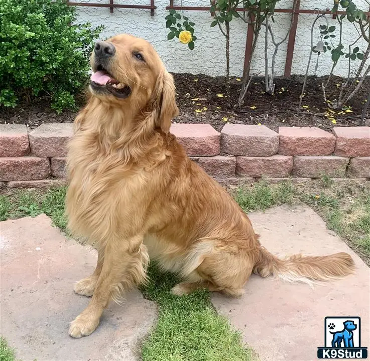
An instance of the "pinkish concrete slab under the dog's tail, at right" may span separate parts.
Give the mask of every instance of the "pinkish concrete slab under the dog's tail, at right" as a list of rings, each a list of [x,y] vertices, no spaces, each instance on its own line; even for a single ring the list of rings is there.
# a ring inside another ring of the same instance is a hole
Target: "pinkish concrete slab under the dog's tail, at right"
[[[218,293],[212,302],[240,329],[261,361],[317,360],[317,347],[324,346],[326,316],[360,316],[361,346],[370,347],[369,268],[308,207],[281,206],[265,213],[252,213],[261,243],[275,254],[327,255],[348,252],[356,274],[315,286],[287,284],[253,275],[245,295],[232,299]]]

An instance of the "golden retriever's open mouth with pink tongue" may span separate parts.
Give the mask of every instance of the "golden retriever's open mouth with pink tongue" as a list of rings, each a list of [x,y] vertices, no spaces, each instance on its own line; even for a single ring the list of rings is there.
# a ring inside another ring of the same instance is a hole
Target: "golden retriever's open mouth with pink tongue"
[[[127,98],[131,94],[128,85],[120,83],[101,67],[91,74],[90,85],[95,91],[108,92],[117,98]]]

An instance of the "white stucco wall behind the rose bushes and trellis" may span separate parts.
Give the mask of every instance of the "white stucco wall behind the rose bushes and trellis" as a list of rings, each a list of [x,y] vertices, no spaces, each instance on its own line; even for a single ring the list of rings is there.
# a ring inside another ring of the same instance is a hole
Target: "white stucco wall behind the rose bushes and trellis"
[[[84,2],[104,3],[107,0],[82,0]],[[114,0],[119,4],[142,4],[149,5],[149,0]],[[365,0],[355,0],[358,8],[366,11],[368,5]],[[291,9],[293,0],[281,0],[278,3],[278,8]],[[332,7],[332,0],[305,0],[301,2],[301,9],[325,9]],[[165,26],[165,16],[168,11],[165,7],[169,5],[169,0],[155,0],[157,10],[154,17],[150,16],[150,10],[138,9],[118,9],[115,8],[113,14],[109,12],[109,8],[92,8],[92,7],[77,7],[78,22],[90,22],[93,25],[103,24],[105,30],[101,37],[106,38],[119,33],[129,33],[135,36],[145,38],[153,44],[159,55],[162,57],[167,69],[175,73],[203,73],[212,76],[225,74],[225,38],[220,34],[218,27],[210,28],[212,17],[208,12],[185,11],[184,15],[189,17],[190,21],[195,23],[194,35],[197,36],[195,49],[190,51],[186,45],[179,43],[175,38],[171,41],[167,40],[168,29]],[[175,5],[180,5],[180,0],[175,1]],[[208,0],[183,0],[183,6],[208,6]],[[275,24],[272,24],[276,41],[285,37],[290,24],[290,14],[276,13]],[[294,48],[292,74],[305,74],[308,56],[310,52],[310,31],[315,15],[300,14],[298,20],[298,29]],[[244,61],[245,40],[246,40],[246,24],[240,20],[233,20],[231,23],[231,40],[230,40],[230,74],[241,76]],[[319,41],[318,26],[324,24],[323,21],[316,23],[314,31],[314,45]],[[357,32],[352,24],[345,23],[343,27],[343,44],[347,45],[353,42]],[[336,20],[330,19],[329,26],[338,25]],[[265,72],[265,36],[264,29],[260,34],[260,39],[252,62],[252,73],[264,74]],[[339,34],[337,26],[334,34]],[[270,38],[269,38],[270,39]],[[337,40],[334,39],[334,44]],[[275,69],[277,75],[284,74],[286,50],[288,40],[283,43],[276,57]],[[270,41],[270,62],[274,47]],[[365,50],[365,43],[357,44],[360,50]],[[310,74],[313,74],[316,54],[313,54]],[[359,62],[357,60],[357,62]],[[320,56],[317,75],[325,75],[330,72],[332,66],[331,55],[329,52]],[[334,74],[340,76],[347,75],[347,62],[343,59],[336,67]]]

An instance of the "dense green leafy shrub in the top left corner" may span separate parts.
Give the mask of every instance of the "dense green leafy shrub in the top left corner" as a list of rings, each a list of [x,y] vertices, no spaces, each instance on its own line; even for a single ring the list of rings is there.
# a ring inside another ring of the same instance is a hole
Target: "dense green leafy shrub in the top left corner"
[[[46,93],[57,112],[75,107],[103,27],[72,25],[75,9],[62,0],[0,0],[0,19],[0,105]]]

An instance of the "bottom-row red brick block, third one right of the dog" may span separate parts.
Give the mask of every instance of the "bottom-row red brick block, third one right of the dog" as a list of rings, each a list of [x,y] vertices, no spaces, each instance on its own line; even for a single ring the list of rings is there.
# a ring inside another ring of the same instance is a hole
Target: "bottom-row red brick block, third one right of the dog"
[[[339,156],[295,156],[293,174],[298,177],[320,178],[323,175],[343,177],[349,159]]]

